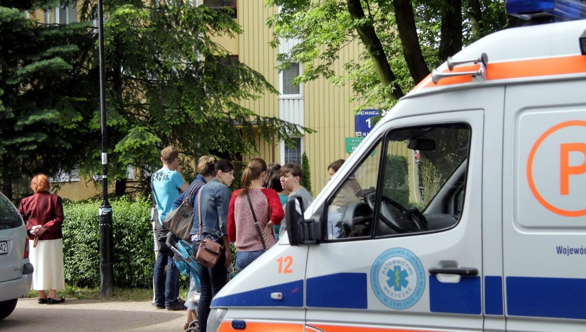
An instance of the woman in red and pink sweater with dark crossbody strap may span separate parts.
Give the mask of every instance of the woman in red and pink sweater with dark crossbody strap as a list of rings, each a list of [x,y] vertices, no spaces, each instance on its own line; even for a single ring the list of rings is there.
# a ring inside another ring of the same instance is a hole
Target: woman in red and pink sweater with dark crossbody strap
[[[236,246],[237,272],[276,243],[273,225],[281,225],[285,216],[276,191],[263,188],[266,170],[263,159],[250,159],[242,172],[242,189],[230,198],[228,239]]]

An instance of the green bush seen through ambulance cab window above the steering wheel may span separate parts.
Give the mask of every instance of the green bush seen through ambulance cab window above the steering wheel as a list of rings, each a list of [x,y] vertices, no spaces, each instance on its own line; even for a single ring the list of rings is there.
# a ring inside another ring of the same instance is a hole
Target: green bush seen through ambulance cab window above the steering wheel
[[[409,164],[403,155],[389,155],[384,167],[384,196],[402,205],[409,204]]]

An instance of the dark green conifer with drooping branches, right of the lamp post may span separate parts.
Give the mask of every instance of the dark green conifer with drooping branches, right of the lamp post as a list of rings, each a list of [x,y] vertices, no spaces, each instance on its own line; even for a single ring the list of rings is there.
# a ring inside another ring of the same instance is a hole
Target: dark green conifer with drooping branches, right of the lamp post
[[[166,145],[193,159],[212,151],[234,156],[256,148],[255,130],[265,140],[300,133],[240,106],[277,91],[212,41],[241,33],[230,13],[191,2],[104,1],[109,163],[117,181],[126,179],[128,165],[160,166]],[[95,5],[83,1],[83,19],[94,17]],[[96,114],[90,127],[99,125]],[[98,173],[99,141],[91,151],[96,162],[86,171]]]

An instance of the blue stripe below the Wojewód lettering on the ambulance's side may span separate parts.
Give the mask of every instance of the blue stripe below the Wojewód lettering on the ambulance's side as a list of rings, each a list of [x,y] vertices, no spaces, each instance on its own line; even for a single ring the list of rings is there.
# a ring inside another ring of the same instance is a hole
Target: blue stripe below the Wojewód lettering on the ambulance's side
[[[510,316],[586,319],[586,279],[507,277]]]

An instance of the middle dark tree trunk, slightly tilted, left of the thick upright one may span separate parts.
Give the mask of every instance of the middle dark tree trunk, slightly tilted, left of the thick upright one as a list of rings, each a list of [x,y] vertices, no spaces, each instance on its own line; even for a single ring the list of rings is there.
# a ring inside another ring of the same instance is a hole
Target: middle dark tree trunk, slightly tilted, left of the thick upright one
[[[421,82],[429,75],[429,69],[419,45],[413,5],[411,0],[393,0],[393,5],[395,6],[395,20],[409,73],[415,83]]]

